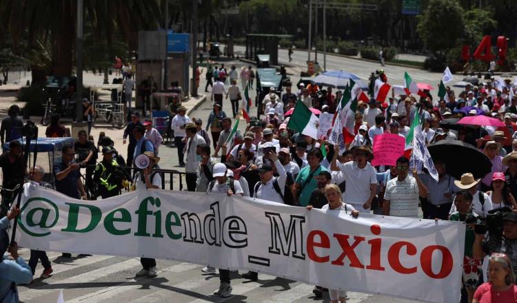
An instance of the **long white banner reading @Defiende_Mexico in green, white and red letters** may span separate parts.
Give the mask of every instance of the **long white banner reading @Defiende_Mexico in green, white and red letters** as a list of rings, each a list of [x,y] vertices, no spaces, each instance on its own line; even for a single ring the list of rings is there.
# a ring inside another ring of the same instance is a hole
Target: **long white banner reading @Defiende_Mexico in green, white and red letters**
[[[330,289],[458,302],[465,224],[150,189],[74,200],[28,187],[23,247],[247,269]]]

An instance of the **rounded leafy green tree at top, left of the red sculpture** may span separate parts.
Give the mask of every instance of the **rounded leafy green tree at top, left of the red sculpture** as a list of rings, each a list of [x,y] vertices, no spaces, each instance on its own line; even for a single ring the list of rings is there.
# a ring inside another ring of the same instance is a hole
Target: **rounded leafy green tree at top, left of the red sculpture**
[[[427,8],[417,16],[416,31],[434,52],[453,48],[465,32],[463,8],[456,0],[430,0]]]

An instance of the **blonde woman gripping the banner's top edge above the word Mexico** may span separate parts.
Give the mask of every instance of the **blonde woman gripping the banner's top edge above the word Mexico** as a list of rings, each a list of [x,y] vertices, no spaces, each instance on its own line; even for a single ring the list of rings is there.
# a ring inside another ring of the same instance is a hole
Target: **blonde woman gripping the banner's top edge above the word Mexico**
[[[341,198],[341,189],[339,189],[338,185],[329,184],[325,186],[325,198],[327,198],[328,204],[323,205],[321,210],[326,213],[334,213],[336,211],[345,211],[349,212],[350,216],[357,218],[359,216],[359,211],[357,211],[352,205],[349,205],[343,202],[343,198]],[[312,209],[312,205],[307,205],[305,207],[307,210]],[[319,288],[316,286],[312,291],[314,294],[318,291]],[[321,290],[320,290],[321,292]],[[317,296],[317,295],[316,295]],[[345,303],[347,302],[347,292],[343,289],[329,289],[329,296],[331,303]]]

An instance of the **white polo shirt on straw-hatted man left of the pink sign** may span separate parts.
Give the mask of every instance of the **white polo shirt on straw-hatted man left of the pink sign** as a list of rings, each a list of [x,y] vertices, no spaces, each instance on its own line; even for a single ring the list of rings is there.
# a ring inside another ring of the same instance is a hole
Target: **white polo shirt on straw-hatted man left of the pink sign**
[[[375,168],[366,163],[362,169],[357,167],[356,161],[350,161],[339,165],[343,171],[347,187],[345,189],[344,200],[349,204],[363,205],[369,198],[370,185],[377,184],[377,174]]]

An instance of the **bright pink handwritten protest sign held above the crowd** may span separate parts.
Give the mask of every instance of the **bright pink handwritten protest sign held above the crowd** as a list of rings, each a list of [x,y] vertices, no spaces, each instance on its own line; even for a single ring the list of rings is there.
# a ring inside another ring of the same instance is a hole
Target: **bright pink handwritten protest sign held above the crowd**
[[[404,154],[405,143],[405,138],[397,134],[375,136],[372,165],[396,165],[396,160]]]

